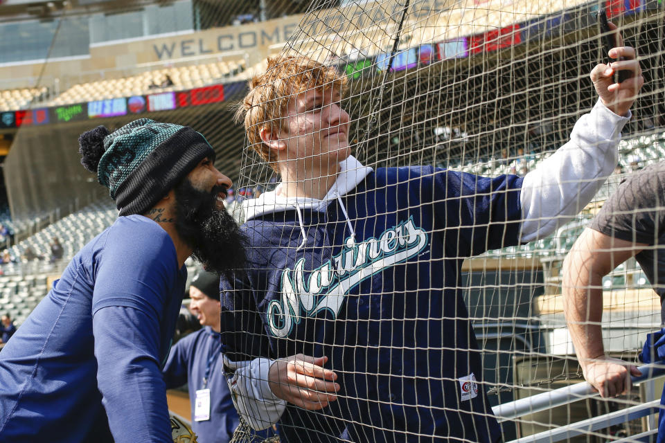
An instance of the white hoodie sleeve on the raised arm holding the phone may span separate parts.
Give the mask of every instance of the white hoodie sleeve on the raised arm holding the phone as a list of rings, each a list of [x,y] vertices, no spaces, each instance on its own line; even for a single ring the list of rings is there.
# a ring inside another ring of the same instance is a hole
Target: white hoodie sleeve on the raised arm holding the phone
[[[573,128],[568,143],[524,177],[520,242],[553,233],[591,201],[617,165],[621,129],[630,120],[601,100]]]

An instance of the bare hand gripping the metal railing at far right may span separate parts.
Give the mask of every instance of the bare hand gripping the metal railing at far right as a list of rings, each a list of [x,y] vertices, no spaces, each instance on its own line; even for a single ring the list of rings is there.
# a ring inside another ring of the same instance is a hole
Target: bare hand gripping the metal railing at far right
[[[619,359],[601,356],[582,363],[584,378],[601,397],[617,397],[630,390],[630,376],[641,375],[637,366]]]

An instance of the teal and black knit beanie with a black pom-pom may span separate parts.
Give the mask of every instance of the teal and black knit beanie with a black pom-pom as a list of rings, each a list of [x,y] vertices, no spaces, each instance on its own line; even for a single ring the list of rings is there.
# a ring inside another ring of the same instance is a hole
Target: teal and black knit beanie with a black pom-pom
[[[145,213],[205,157],[215,159],[194,129],[139,118],[109,132],[98,126],[78,138],[81,163],[109,188],[120,215]]]

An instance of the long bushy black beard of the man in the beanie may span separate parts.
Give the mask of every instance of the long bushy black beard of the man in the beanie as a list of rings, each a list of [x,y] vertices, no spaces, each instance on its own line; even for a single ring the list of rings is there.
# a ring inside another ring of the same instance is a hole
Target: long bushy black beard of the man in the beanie
[[[245,267],[247,237],[226,210],[217,209],[217,195],[226,191],[225,186],[215,186],[206,192],[184,179],[175,187],[175,230],[192,248],[195,260],[231,281],[233,271]]]

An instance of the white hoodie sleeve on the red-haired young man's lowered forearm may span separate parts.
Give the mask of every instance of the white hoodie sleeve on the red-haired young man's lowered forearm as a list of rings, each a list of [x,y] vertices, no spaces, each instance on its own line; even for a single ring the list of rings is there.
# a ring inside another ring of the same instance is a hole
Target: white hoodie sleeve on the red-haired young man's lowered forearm
[[[286,401],[276,397],[268,383],[268,370],[273,361],[254,359],[232,362],[226,356],[223,358],[225,367],[235,369],[225,377],[240,417],[255,431],[278,422],[286,408]]]

